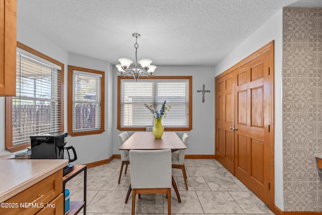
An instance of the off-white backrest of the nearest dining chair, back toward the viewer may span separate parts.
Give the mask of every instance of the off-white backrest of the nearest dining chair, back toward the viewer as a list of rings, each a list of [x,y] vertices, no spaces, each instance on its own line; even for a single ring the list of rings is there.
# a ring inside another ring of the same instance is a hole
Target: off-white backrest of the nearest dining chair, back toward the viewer
[[[131,187],[171,188],[171,149],[130,150]]]

